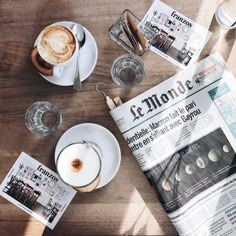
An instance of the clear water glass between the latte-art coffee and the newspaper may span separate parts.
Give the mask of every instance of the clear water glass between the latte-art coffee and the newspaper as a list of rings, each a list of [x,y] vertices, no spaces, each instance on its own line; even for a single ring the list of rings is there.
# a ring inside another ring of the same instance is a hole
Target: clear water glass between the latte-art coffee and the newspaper
[[[114,61],[111,76],[113,81],[122,88],[138,86],[144,79],[143,61],[131,54],[123,55]]]

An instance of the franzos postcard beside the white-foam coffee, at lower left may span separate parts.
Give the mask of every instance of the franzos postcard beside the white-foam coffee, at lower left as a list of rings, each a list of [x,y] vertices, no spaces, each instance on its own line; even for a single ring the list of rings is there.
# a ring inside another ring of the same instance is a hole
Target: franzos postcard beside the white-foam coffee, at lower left
[[[22,152],[0,185],[0,195],[53,229],[76,191]]]

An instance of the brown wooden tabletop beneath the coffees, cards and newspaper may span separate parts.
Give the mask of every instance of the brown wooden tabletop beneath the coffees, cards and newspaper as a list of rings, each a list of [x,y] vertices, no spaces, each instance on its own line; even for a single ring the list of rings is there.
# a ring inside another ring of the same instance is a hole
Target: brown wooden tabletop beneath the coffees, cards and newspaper
[[[109,27],[126,8],[142,18],[152,2],[1,1],[0,180],[3,180],[21,151],[55,170],[53,155],[57,141],[67,129],[80,123],[93,122],[106,127],[115,135],[122,151],[119,172],[111,183],[88,194],[77,194],[53,231],[0,198],[1,235],[176,235],[156,193],[111,119],[103,98],[95,91],[95,84],[103,81],[107,84],[105,91],[110,96],[120,96],[127,101],[180,71],[160,56],[148,52],[143,57],[146,78],[139,87],[124,90],[111,80],[112,62],[126,52],[110,39]],[[214,12],[219,1],[163,2],[209,28],[213,35],[201,58],[219,50],[236,74],[235,30],[226,32],[217,25]],[[81,92],[47,82],[30,61],[32,44],[40,30],[61,20],[81,23],[97,42],[97,65],[83,83]],[[63,123],[51,136],[34,136],[25,127],[26,109],[39,100],[52,102],[62,113]]]

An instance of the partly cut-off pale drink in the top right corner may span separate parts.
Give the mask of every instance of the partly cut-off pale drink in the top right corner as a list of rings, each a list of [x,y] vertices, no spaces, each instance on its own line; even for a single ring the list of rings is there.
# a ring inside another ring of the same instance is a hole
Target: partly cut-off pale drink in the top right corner
[[[236,28],[236,1],[225,0],[217,8],[215,13],[217,22],[227,28]]]

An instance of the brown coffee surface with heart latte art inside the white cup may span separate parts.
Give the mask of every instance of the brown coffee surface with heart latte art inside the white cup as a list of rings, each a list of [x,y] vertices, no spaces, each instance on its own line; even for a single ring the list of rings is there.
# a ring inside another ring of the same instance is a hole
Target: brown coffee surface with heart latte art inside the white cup
[[[39,55],[53,65],[68,61],[75,53],[76,39],[63,25],[50,25],[42,30],[37,39]]]

